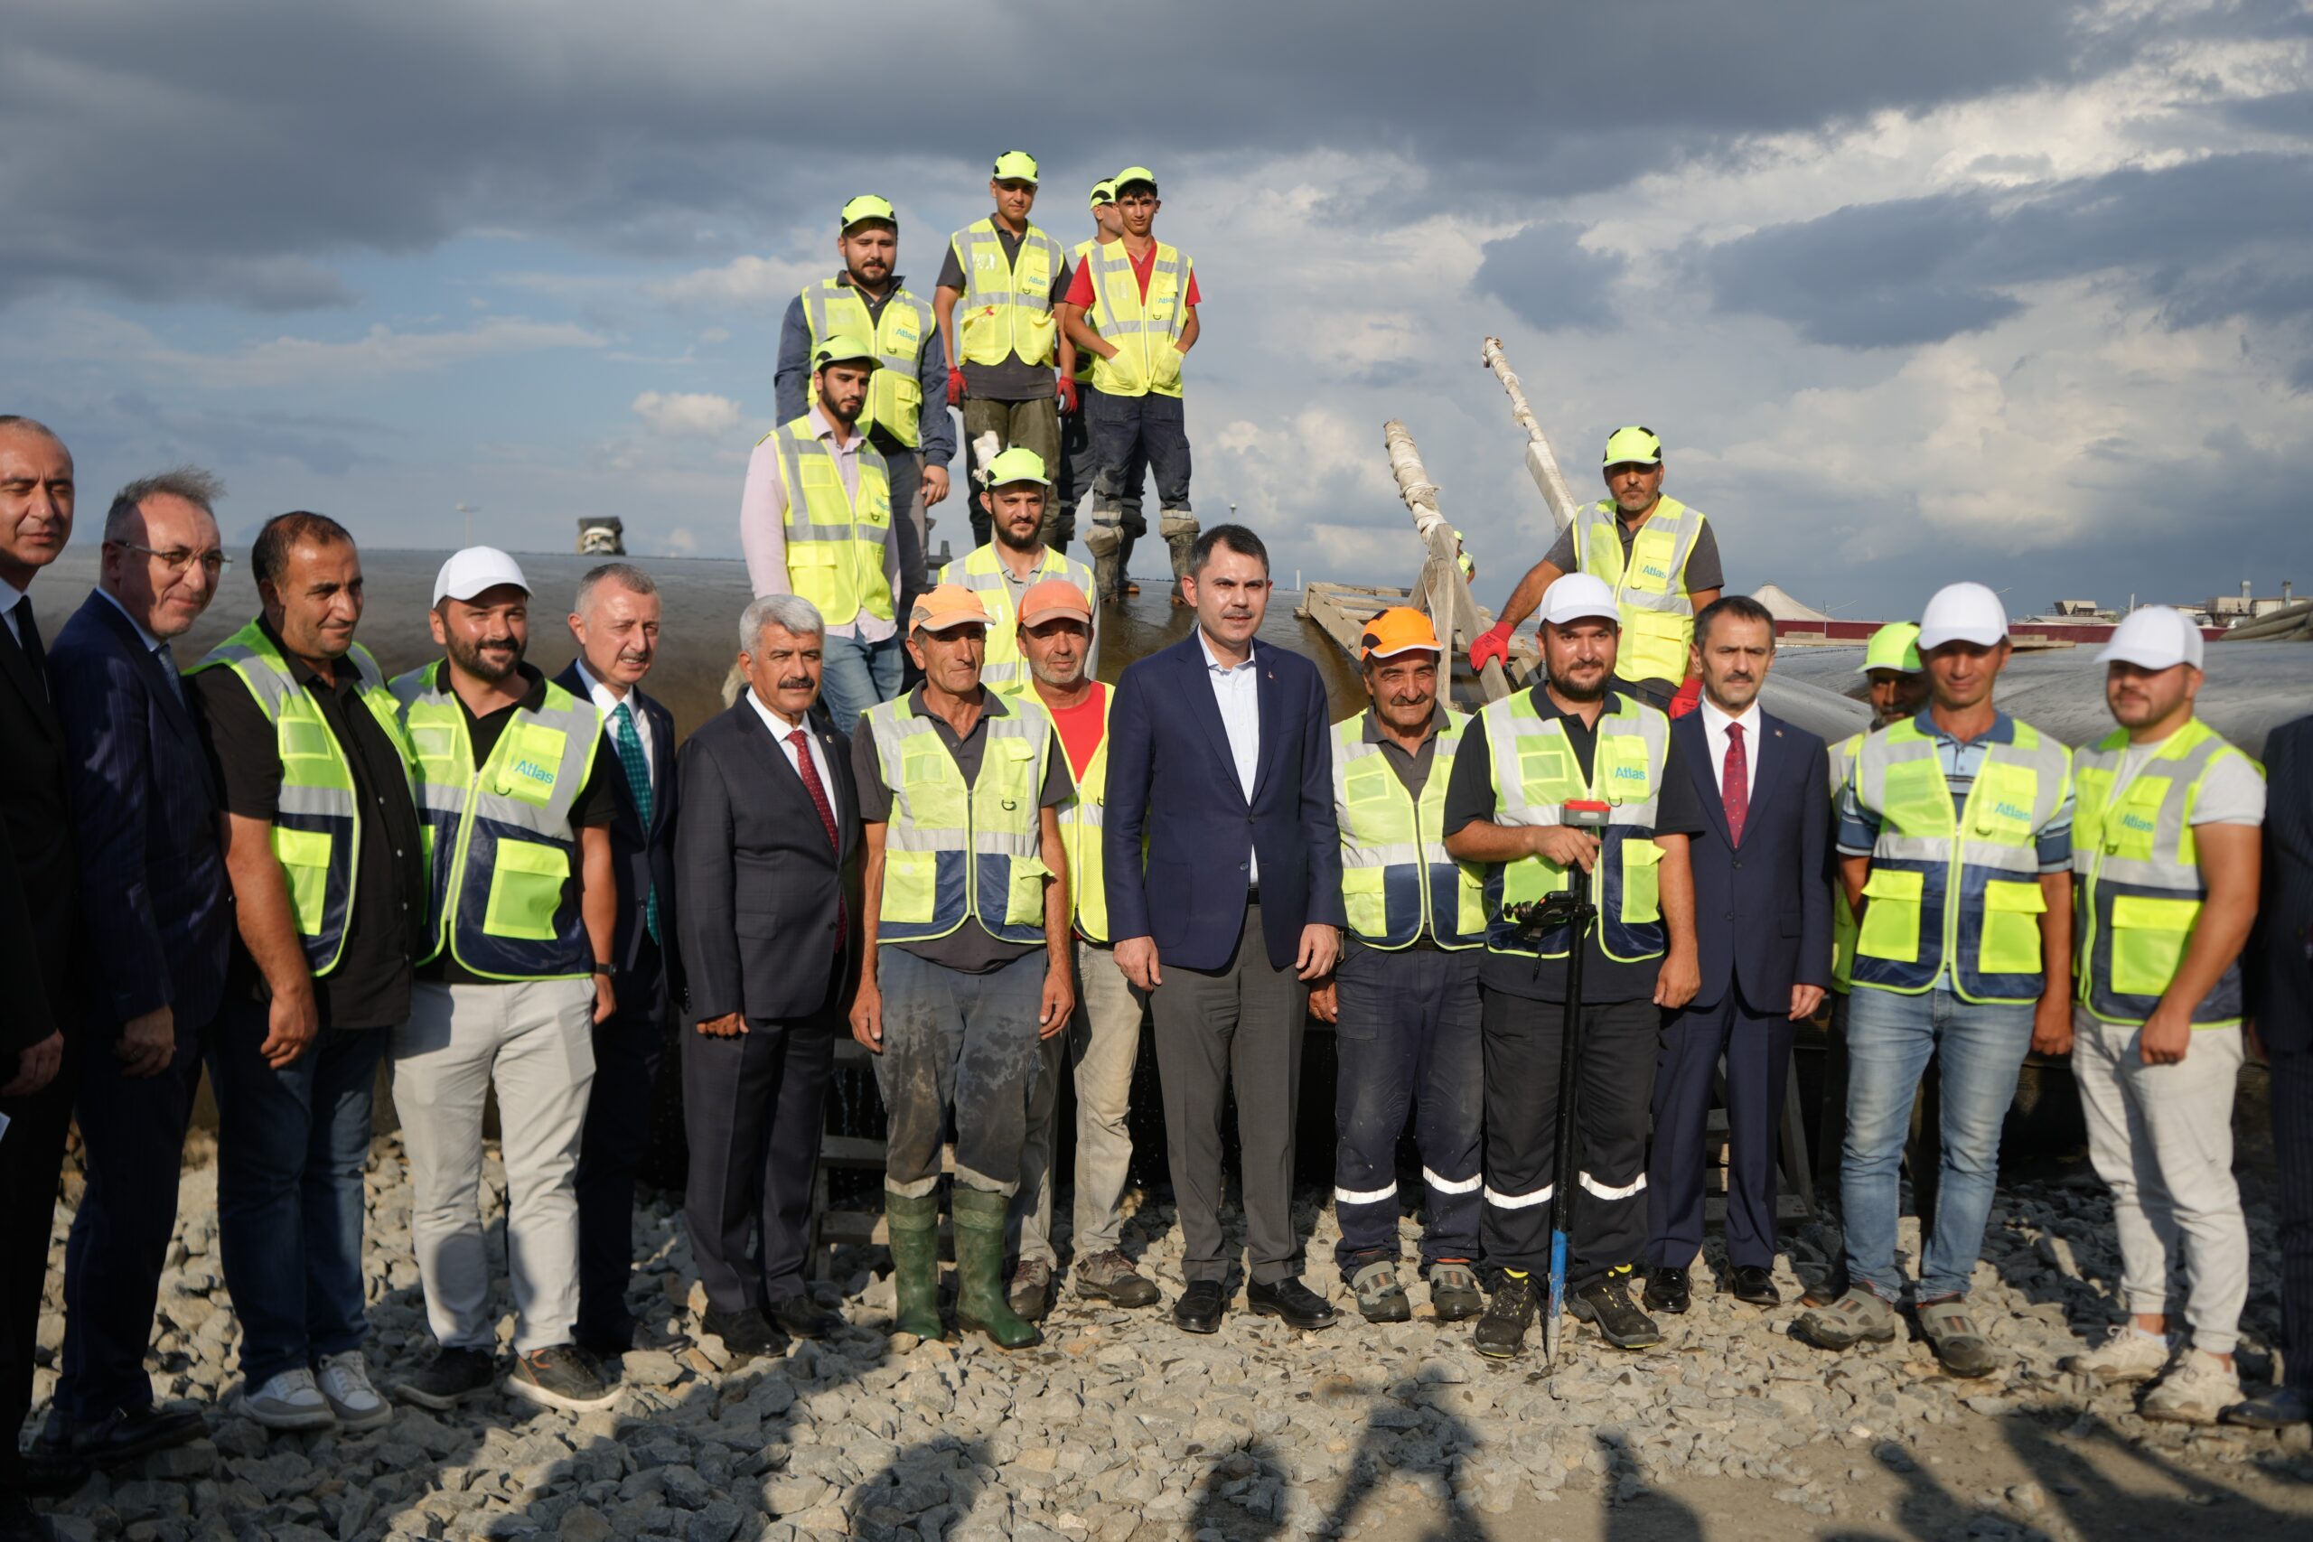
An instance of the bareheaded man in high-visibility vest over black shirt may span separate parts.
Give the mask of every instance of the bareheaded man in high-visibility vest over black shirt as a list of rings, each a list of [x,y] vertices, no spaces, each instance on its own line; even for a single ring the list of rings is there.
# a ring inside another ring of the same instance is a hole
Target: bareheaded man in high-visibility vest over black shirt
[[[426,952],[426,846],[400,707],[361,627],[354,536],[278,513],[257,617],[187,677],[224,805],[241,946],[208,1052],[217,1241],[241,1408],[268,1429],[379,1429],[361,1341],[377,1066]]]

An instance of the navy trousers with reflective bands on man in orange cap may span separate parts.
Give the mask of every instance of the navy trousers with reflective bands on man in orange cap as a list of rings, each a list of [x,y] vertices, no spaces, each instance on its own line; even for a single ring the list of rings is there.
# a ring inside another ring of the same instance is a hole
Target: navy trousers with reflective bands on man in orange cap
[[[1478,1258],[1485,1026],[1478,948],[1358,948],[1335,971],[1332,1214],[1348,1278],[1397,1258],[1397,1137],[1422,1154],[1422,1262]]]

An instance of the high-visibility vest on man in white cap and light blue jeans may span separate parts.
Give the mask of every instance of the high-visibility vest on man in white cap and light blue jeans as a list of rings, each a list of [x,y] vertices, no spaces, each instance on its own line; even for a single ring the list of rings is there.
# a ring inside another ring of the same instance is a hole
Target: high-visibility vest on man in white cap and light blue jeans
[[[1945,962],[1964,1001],[2038,1001],[2038,835],[2070,793],[2072,751],[2031,724],[1989,744],[1952,809],[1936,735],[1904,719],[1864,735],[1855,800],[1878,816],[1855,934],[1855,985],[1917,996]]]

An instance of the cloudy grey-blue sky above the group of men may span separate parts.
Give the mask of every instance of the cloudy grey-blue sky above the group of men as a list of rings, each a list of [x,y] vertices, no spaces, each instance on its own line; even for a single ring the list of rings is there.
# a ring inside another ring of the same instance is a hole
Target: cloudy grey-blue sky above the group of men
[[[1732,587],[2313,587],[2304,2],[1156,14],[16,0],[0,409],[99,509],[197,460],[229,532],[312,506],[567,550],[615,513],[638,553],[736,555],[835,208],[891,197],[930,294],[1020,146],[1071,245],[1092,180],[1159,171],[1205,291],[1194,502],[1281,576],[1413,573],[1390,416],[1480,599],[1540,555],[1499,333],[1577,490],[1612,425],[1663,435]]]

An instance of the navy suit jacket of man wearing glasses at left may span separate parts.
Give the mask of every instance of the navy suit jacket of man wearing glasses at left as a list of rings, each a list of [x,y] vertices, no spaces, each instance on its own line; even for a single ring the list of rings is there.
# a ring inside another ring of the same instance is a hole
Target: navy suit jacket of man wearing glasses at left
[[[95,969],[90,1022],[176,1008],[206,1024],[224,996],[234,902],[217,851],[217,791],[192,694],[104,594],[90,592],[49,652],[72,761],[72,835]]]

